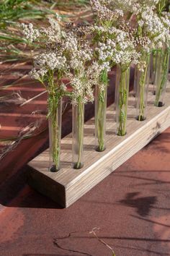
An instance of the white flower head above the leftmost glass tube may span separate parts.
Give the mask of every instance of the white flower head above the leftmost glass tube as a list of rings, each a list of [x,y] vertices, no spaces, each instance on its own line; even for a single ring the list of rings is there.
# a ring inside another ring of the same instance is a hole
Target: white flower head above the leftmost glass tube
[[[60,46],[61,39],[63,40],[63,30],[61,30],[58,20],[50,18],[48,21],[50,25],[42,27],[40,30],[35,29],[31,24],[26,25],[26,27],[30,28],[27,38],[31,41],[36,39],[40,46],[45,48],[44,51],[34,57],[34,69],[30,72],[31,77],[41,82],[50,74],[50,71],[53,73],[58,72],[58,74],[63,72],[64,74],[67,70],[66,56]],[[33,37],[32,35],[35,35],[35,32],[36,37]]]

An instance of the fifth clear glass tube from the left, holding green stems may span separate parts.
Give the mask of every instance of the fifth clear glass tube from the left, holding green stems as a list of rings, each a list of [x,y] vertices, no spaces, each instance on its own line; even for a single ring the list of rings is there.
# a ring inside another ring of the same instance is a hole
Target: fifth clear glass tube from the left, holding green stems
[[[150,77],[150,58],[148,56],[146,67],[143,70],[138,69],[137,74],[137,93],[136,93],[136,109],[137,120],[146,119],[147,101],[148,101],[148,85]]]

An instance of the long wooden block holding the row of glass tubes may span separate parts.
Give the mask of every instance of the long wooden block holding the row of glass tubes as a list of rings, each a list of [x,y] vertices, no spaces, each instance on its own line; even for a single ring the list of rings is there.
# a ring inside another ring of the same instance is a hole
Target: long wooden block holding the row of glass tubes
[[[30,161],[28,183],[37,191],[68,208],[92,187],[101,182],[112,171],[145,147],[153,138],[170,126],[170,83],[165,96],[165,105],[153,106],[155,96],[152,86],[148,93],[148,114],[145,121],[135,119],[135,98],[130,93],[128,107],[127,135],[115,135],[114,105],[107,108],[107,149],[99,153],[94,150],[94,118],[84,124],[84,167],[72,168],[71,134],[61,141],[61,170],[48,171],[48,150]]]

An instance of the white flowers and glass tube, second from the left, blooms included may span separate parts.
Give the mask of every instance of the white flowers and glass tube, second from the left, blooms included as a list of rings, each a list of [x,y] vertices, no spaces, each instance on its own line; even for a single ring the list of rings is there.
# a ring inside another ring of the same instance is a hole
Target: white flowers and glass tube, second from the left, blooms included
[[[73,168],[79,169],[84,165],[84,104],[94,101],[94,78],[91,74],[92,50],[87,40],[89,27],[80,24],[68,25],[66,56],[70,73],[73,105]]]

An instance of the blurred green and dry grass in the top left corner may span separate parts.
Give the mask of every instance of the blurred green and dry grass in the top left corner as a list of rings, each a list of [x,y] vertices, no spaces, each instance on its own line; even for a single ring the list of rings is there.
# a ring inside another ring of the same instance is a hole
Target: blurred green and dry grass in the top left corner
[[[19,23],[42,24],[46,17],[60,12],[66,21],[86,17],[89,0],[1,0],[0,1],[0,61],[29,60],[27,40],[22,38]],[[38,47],[38,46],[37,46]],[[35,47],[36,48],[36,47]]]

